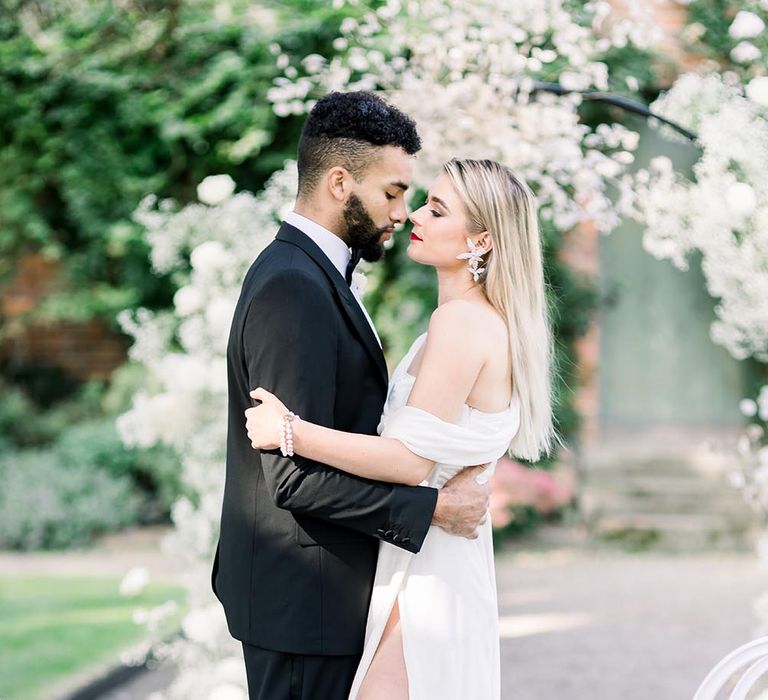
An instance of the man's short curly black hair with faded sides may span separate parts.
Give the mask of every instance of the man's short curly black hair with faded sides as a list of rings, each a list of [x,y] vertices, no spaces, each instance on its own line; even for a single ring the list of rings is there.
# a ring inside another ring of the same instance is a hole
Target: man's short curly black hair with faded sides
[[[382,146],[416,153],[421,139],[413,119],[370,92],[329,93],[312,108],[301,132],[299,195],[311,193],[336,165],[359,181]]]

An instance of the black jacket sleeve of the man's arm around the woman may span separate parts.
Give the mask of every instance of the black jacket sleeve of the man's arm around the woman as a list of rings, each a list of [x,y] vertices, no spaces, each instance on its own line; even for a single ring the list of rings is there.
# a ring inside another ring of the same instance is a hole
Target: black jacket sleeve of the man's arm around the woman
[[[266,281],[243,326],[250,388],[262,386],[294,413],[334,426],[341,321],[324,285],[300,271]],[[275,505],[386,539],[418,552],[432,521],[437,490],[362,479],[299,455],[262,450]]]

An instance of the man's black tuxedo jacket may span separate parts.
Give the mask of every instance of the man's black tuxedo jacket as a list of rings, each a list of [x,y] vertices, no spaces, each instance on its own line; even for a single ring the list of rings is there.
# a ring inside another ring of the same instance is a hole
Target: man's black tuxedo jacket
[[[299,654],[356,654],[378,539],[418,552],[437,491],[361,479],[245,430],[262,386],[313,423],[376,434],[384,356],[352,291],[307,235],[283,224],[243,282],[227,349],[229,424],[213,590],[236,639]]]

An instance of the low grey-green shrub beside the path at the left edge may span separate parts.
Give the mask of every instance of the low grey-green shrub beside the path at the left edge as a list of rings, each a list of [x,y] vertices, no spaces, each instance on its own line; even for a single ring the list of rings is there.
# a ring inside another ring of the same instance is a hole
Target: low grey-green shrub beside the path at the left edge
[[[51,450],[0,455],[0,483],[0,547],[79,547],[137,518],[130,479],[90,465],[65,468]]]

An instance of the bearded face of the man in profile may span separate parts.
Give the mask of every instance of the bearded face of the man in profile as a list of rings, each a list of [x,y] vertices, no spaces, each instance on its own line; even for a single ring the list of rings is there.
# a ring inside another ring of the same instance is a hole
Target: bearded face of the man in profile
[[[380,260],[384,243],[408,216],[405,192],[410,186],[413,160],[399,147],[378,149],[378,158],[344,202],[344,230],[350,245],[362,250],[363,260]]]

